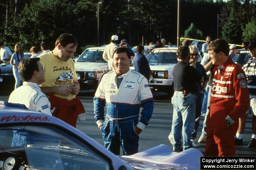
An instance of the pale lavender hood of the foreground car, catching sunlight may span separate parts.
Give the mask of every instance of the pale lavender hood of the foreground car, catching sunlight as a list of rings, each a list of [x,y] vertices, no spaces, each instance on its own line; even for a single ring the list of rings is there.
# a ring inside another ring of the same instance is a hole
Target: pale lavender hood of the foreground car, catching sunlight
[[[195,148],[177,153],[167,145],[159,145],[137,154],[123,156],[121,159],[134,169],[195,170],[195,167],[200,167],[198,160],[202,156],[202,153]]]

